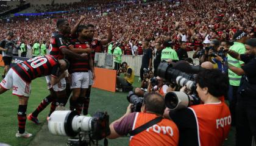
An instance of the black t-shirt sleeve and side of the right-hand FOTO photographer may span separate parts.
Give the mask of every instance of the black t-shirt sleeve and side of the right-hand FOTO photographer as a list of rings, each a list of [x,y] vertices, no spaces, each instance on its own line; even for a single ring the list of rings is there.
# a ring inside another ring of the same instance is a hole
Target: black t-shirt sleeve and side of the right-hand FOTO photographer
[[[179,128],[179,145],[180,146],[198,146],[196,117],[189,108],[180,109],[170,112],[169,116]]]

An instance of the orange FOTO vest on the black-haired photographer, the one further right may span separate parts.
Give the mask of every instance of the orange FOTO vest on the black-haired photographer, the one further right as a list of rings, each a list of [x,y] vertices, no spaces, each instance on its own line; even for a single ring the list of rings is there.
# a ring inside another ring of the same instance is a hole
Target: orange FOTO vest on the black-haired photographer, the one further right
[[[196,117],[199,146],[219,146],[229,135],[231,116],[226,103],[190,106]]]

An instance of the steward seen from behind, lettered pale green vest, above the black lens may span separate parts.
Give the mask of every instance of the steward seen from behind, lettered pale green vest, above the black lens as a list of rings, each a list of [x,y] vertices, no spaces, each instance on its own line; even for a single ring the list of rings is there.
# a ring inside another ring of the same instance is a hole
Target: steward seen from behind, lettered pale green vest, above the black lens
[[[171,40],[166,40],[163,43],[165,49],[162,50],[161,60],[179,60],[177,52],[171,48]]]

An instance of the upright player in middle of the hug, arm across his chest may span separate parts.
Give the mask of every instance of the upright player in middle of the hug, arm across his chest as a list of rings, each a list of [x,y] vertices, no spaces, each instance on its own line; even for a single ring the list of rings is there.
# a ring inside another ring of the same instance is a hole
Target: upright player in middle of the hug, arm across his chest
[[[71,89],[72,97],[70,101],[70,109],[80,114],[82,109],[82,102],[85,99],[85,94],[89,86],[89,74],[91,71],[94,74],[93,60],[91,58],[90,45],[87,42],[88,27],[80,25],[77,29],[78,38],[71,40],[72,47],[70,50],[76,53],[87,53],[87,58],[69,59],[71,67],[69,73],[71,74]]]

